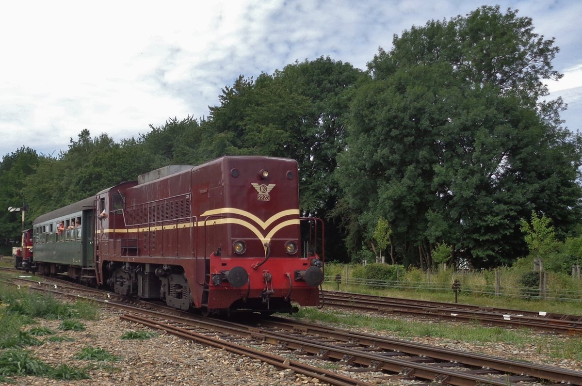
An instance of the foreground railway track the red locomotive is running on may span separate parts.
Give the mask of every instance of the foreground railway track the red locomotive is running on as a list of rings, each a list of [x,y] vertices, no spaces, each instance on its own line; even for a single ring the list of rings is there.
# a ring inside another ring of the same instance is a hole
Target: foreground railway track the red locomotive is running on
[[[34,283],[33,289],[41,289]],[[33,284],[31,283],[31,284]],[[68,295],[66,292],[54,289],[54,284],[44,285],[44,289]],[[53,288],[51,288],[53,287]],[[65,285],[61,287],[65,289]],[[80,291],[74,288],[74,293]],[[419,343],[398,341],[346,331],[321,325],[300,323],[285,318],[251,318],[246,323],[217,320],[193,316],[189,313],[159,307],[156,304],[144,302],[140,307],[117,303],[112,300],[102,300],[103,293],[91,291],[91,296],[104,301],[105,305],[122,309],[126,314],[121,317],[136,323],[148,325],[151,328],[164,330],[183,338],[195,339],[198,342],[215,347],[233,346],[233,352],[244,355],[261,355],[260,352],[272,352],[275,346],[279,350],[296,355],[303,354],[320,360],[333,360],[343,364],[350,371],[371,371],[379,381],[395,380],[397,378],[448,383],[451,385],[491,384],[499,386],[537,383],[569,383],[582,385],[582,373],[579,371],[558,369],[556,367],[524,363],[491,356],[477,355],[458,350],[437,348]],[[218,340],[217,335],[219,335]],[[236,343],[235,343],[236,342]],[[244,345],[238,343],[244,342]],[[270,345],[259,352],[244,353],[247,345]],[[230,348],[229,348],[230,349]],[[272,355],[272,354],[269,354]],[[258,356],[257,356],[258,357]],[[350,377],[333,378],[340,374],[308,366],[299,366],[300,362],[285,359],[282,355],[263,357],[264,362],[282,368],[292,368],[301,374],[318,378],[330,384],[367,384],[364,380]],[[297,363],[296,363],[297,362]],[[303,364],[301,364],[303,366]],[[333,375],[335,374],[335,375]],[[350,383],[351,382],[351,383]]]

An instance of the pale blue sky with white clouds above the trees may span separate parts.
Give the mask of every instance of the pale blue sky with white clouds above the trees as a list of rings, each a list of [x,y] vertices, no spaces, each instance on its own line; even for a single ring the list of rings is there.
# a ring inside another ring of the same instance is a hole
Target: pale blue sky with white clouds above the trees
[[[239,75],[330,56],[365,69],[392,37],[482,5],[518,9],[555,38],[549,98],[582,129],[582,2],[485,0],[6,1],[0,7],[0,157],[58,157],[81,130],[115,141],[208,116]]]

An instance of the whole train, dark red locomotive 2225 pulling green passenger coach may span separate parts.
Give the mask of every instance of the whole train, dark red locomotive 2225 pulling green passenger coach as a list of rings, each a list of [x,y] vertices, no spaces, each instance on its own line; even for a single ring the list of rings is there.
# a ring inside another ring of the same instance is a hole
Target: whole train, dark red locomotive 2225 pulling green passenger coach
[[[168,165],[34,219],[20,265],[180,310],[292,313],[324,280],[324,224],[300,214],[295,160]]]

